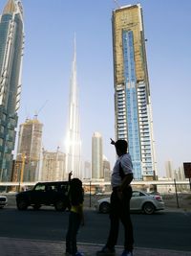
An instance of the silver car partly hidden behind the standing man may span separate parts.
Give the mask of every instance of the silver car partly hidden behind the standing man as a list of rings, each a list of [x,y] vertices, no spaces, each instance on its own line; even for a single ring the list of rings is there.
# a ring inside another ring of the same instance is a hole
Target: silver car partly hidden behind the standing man
[[[96,210],[100,213],[109,213],[110,198],[102,198],[96,201]],[[130,201],[131,211],[140,211],[145,214],[153,214],[155,211],[164,210],[164,202],[159,195],[149,195],[143,191],[133,191]]]

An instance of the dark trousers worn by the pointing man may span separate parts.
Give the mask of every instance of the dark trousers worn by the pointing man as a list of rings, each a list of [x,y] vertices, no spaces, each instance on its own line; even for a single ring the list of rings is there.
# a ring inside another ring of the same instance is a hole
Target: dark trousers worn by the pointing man
[[[119,221],[124,227],[124,248],[132,251],[134,244],[133,224],[130,217],[130,199],[132,197],[132,188],[128,186],[122,194],[122,198],[117,195],[117,189],[113,189],[111,195],[110,208],[110,233],[106,246],[114,248],[117,244]]]

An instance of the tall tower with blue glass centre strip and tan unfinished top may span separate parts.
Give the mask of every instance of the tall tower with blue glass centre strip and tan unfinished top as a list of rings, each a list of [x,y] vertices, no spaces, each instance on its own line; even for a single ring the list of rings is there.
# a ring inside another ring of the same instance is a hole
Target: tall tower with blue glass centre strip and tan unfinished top
[[[136,179],[155,179],[153,119],[140,5],[113,12],[116,139],[128,141]]]

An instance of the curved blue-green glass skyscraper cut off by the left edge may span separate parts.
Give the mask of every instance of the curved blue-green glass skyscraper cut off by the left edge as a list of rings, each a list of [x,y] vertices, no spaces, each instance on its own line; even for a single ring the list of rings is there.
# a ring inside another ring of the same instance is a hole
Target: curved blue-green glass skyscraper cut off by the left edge
[[[9,0],[0,16],[0,181],[11,180],[23,47],[22,6]]]

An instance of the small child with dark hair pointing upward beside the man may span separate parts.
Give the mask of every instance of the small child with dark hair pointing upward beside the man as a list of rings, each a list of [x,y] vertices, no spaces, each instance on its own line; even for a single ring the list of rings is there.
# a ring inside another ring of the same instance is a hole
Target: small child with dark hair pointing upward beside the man
[[[76,235],[80,223],[84,225],[83,217],[83,188],[82,182],[78,178],[71,179],[73,173],[69,174],[69,199],[71,202],[71,210],[69,215],[69,226],[66,235],[66,256],[83,256],[82,253],[77,251]]]

